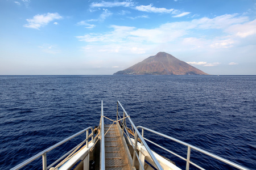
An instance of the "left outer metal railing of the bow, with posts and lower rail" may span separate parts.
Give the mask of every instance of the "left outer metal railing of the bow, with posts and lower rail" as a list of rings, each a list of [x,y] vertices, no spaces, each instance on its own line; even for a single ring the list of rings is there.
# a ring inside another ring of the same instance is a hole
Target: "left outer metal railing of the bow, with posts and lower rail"
[[[88,142],[89,142],[89,138],[88,138],[88,137],[89,137],[89,135],[88,135],[88,134],[89,134],[89,129],[92,130],[92,133],[91,133],[91,134],[92,134],[92,141],[93,141],[93,138],[94,138],[93,128],[92,128],[92,127],[88,127],[88,128],[86,128],[86,129],[84,129],[84,130],[79,131],[79,132],[76,133],[76,134],[73,134],[72,136],[70,136],[70,137],[68,137],[68,138],[65,138],[63,141],[60,141],[59,143],[56,143],[55,145],[53,145],[53,146],[47,148],[46,150],[40,152],[39,154],[36,154],[35,156],[32,156],[30,159],[27,159],[27,160],[25,160],[24,162],[22,162],[22,163],[16,165],[16,167],[11,168],[11,170],[20,169],[20,168],[24,167],[25,165],[27,165],[27,164],[33,162],[34,160],[38,159],[40,156],[42,156],[43,170],[47,170],[47,169],[51,168],[53,165],[55,165],[57,162],[59,162],[61,159],[65,158],[65,156],[67,156],[67,155],[70,154],[73,150],[75,150],[78,146],[80,146],[81,143],[83,143],[83,142],[86,141],[86,147],[88,147]],[[62,144],[65,143],[65,142],[68,142],[68,141],[71,140],[72,138],[77,137],[78,135],[84,133],[85,131],[86,131],[86,139],[85,139],[85,141],[81,142],[79,145],[77,145],[76,147],[74,147],[71,151],[67,152],[66,154],[64,154],[63,156],[61,156],[61,158],[57,159],[54,163],[52,163],[51,165],[49,165],[49,166],[47,167],[47,158],[46,158],[47,152],[53,150],[54,148],[56,148],[56,147],[62,145]]]

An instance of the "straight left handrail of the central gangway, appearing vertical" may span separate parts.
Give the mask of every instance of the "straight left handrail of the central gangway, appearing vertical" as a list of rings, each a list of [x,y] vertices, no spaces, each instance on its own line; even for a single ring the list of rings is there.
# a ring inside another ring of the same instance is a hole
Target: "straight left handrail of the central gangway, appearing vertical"
[[[104,113],[103,113],[103,101],[101,101],[101,166],[100,169],[105,169],[105,138],[104,138]]]

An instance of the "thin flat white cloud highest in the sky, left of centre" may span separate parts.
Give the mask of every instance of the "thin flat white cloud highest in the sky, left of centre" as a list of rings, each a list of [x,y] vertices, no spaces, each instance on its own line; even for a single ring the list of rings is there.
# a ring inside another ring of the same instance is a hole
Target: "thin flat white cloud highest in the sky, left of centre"
[[[125,2],[105,2],[101,1],[101,3],[93,2],[90,7],[118,7],[118,6],[123,6],[123,7],[130,7],[133,6],[134,2],[132,1],[125,1]]]

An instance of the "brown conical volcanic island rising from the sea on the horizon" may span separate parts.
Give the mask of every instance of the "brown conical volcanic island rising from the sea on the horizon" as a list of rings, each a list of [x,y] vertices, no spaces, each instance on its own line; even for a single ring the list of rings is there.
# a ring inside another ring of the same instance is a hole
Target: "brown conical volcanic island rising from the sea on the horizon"
[[[148,57],[128,69],[114,74],[130,75],[207,75],[184,61],[180,61],[171,54],[159,52],[155,56]]]

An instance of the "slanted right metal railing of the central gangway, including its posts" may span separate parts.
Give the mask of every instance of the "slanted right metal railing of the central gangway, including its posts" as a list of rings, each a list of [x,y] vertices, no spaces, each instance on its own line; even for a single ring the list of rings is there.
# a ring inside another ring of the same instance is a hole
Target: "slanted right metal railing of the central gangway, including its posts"
[[[141,139],[141,143],[144,145],[144,147],[146,148],[148,154],[151,156],[151,159],[153,160],[153,162],[155,163],[156,167],[158,169],[163,169],[160,165],[160,163],[158,162],[158,160],[156,160],[154,154],[152,153],[152,151],[150,150],[150,148],[147,146],[147,143],[144,141],[142,135],[139,133],[138,129],[136,128],[136,126],[133,124],[133,121],[131,121],[131,118],[130,116],[126,113],[125,109],[122,107],[121,103],[119,101],[117,101],[117,120],[118,120],[118,116],[121,118],[121,116],[119,115],[118,113],[118,104],[120,105],[120,107],[122,108],[123,110],[123,131],[125,130],[126,131],[126,134],[129,134],[126,127],[125,127],[125,120],[126,118],[129,120],[131,126],[133,127],[133,129],[135,130],[135,138],[134,138],[134,145],[133,145],[133,142],[131,142],[131,138],[130,136],[128,135],[129,137],[129,141],[131,143],[131,145],[133,145],[133,167],[135,167],[135,160],[136,158],[138,159],[139,161],[139,164],[141,166],[142,169],[144,169],[142,163],[141,163],[141,160],[139,159],[139,156],[137,154],[137,143],[138,143],[138,138]]]

